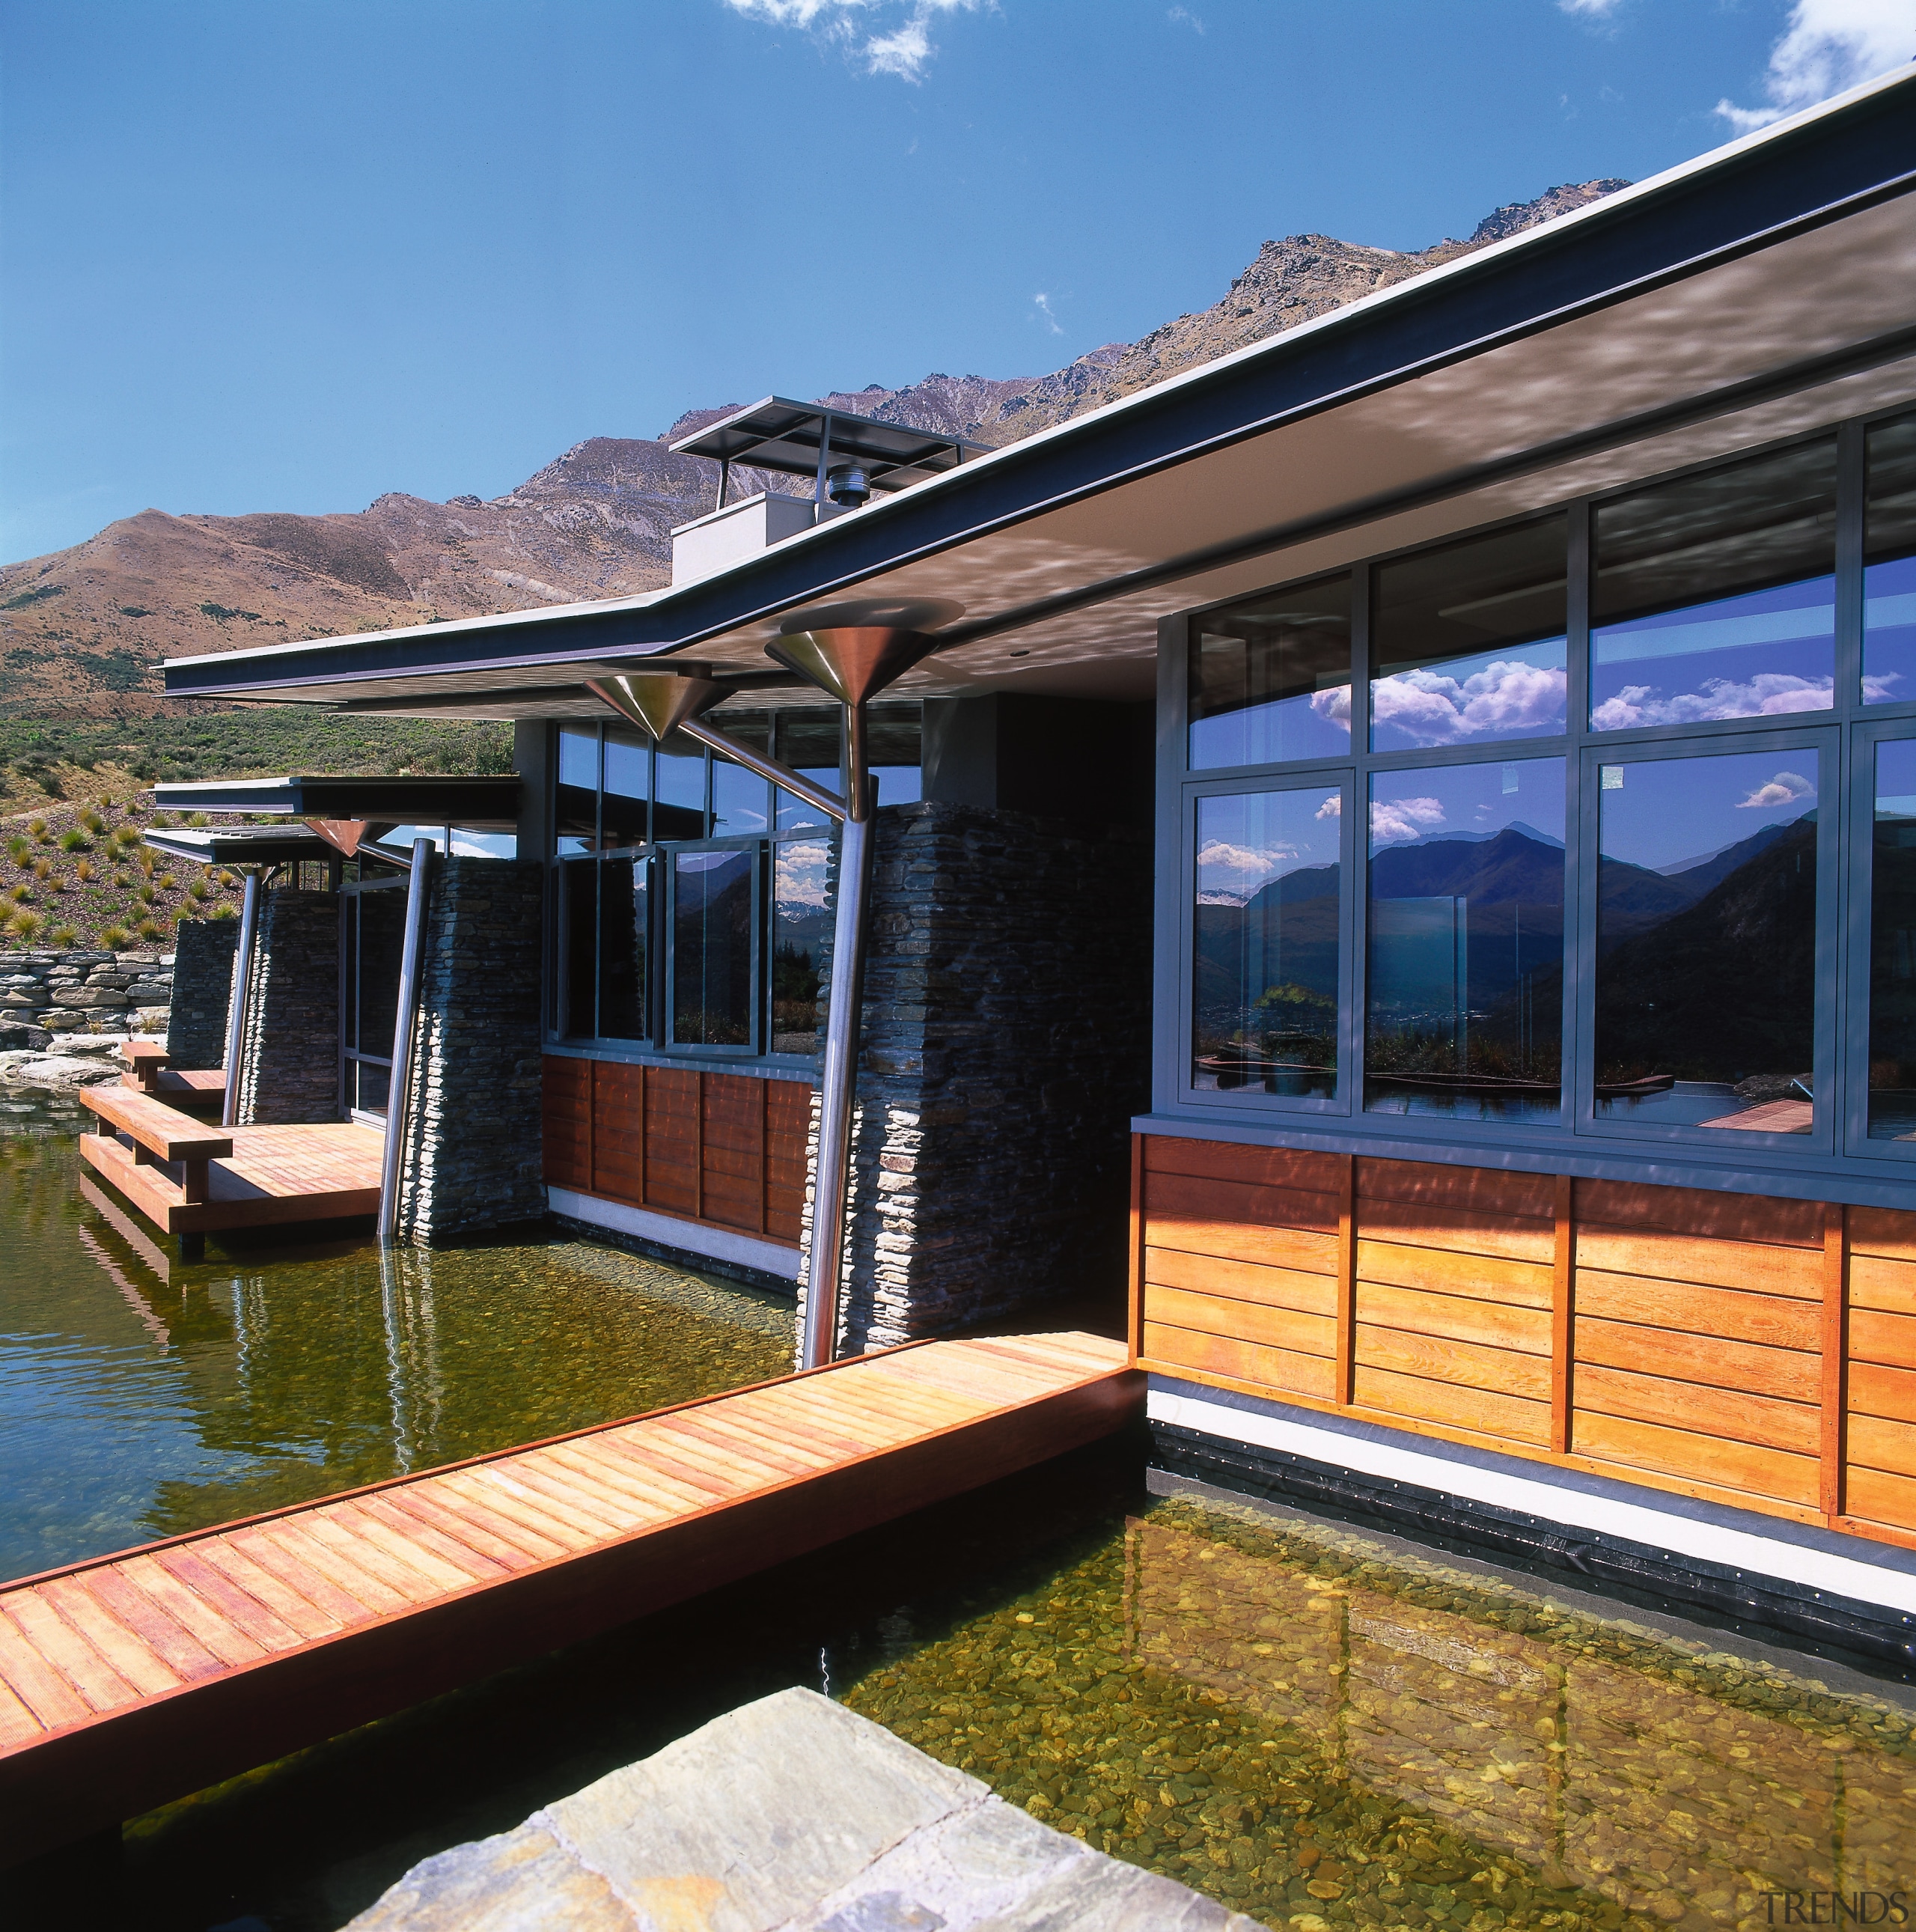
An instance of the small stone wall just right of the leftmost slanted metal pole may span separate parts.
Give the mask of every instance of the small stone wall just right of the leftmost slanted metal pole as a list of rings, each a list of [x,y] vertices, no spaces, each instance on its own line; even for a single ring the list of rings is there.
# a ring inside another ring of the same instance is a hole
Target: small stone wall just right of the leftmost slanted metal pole
[[[340,1117],[340,900],[265,893],[245,1014],[240,1124]]]

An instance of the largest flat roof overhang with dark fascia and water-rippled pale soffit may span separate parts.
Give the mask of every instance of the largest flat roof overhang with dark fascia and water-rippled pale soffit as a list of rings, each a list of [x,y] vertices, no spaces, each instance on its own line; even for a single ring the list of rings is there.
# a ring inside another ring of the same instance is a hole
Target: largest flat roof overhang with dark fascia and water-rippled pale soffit
[[[1912,189],[1899,71],[682,589],[182,659],[166,690],[599,717],[585,678],[688,653],[796,694],[784,612],[939,597],[966,614],[900,697],[1147,697],[1161,616],[1916,398]]]

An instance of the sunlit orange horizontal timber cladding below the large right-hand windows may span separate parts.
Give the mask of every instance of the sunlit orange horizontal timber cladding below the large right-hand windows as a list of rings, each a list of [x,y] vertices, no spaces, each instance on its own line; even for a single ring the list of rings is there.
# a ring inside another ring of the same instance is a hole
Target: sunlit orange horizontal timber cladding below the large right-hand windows
[[[1916,1213],[1140,1136],[1143,1368],[1916,1546]]]

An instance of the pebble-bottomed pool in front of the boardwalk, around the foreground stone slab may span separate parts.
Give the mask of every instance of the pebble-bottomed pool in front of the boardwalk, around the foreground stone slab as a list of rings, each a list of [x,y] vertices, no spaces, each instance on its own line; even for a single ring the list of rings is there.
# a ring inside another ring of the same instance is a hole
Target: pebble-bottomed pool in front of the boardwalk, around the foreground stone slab
[[[1916,1891],[1916,1694],[1655,1623],[1107,1449],[133,1820],[127,1874],[156,1932],[321,1932],[802,1683],[1281,1932],[1754,1932],[1798,1922],[1771,1891],[1825,1924]]]

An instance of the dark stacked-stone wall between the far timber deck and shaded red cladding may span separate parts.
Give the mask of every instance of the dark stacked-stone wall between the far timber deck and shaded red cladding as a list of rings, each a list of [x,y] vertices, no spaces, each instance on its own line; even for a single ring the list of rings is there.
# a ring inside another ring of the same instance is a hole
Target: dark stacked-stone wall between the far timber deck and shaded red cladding
[[[400,1236],[545,1215],[537,860],[440,858],[427,900]]]

